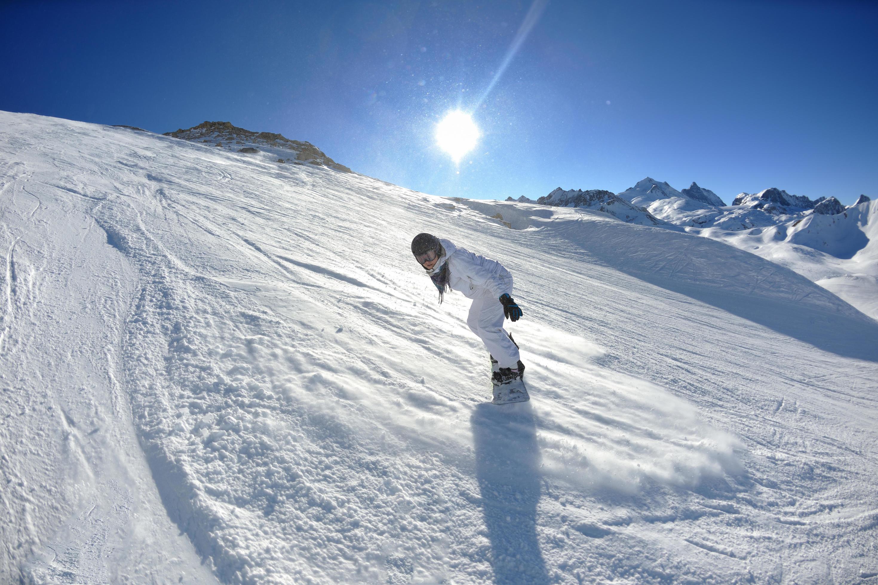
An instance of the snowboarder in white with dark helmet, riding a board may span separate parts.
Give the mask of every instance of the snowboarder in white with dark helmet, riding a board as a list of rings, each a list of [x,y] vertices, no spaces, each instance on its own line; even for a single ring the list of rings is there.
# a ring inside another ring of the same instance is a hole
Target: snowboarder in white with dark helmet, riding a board
[[[509,271],[497,260],[471,253],[429,233],[419,233],[414,237],[412,253],[439,289],[439,303],[448,289],[462,292],[472,299],[466,325],[491,353],[492,402],[505,404],[529,400],[518,345],[503,329],[504,317],[513,322],[522,317],[521,307],[510,295],[512,275]]]

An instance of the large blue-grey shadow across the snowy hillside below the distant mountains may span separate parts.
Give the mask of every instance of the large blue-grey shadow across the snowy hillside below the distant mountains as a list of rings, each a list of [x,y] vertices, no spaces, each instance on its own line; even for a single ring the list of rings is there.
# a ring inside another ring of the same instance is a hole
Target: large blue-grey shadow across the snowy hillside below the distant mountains
[[[878,361],[878,322],[788,268],[701,236],[588,227],[572,241],[610,268],[826,352]]]

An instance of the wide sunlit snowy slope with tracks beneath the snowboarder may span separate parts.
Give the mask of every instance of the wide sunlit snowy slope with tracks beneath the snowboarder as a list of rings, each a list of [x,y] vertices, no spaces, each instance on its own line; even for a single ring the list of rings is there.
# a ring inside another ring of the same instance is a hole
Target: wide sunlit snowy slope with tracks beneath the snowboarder
[[[878,573],[878,324],[786,268],[55,118],[0,152],[0,581]],[[530,403],[421,231],[512,270]]]

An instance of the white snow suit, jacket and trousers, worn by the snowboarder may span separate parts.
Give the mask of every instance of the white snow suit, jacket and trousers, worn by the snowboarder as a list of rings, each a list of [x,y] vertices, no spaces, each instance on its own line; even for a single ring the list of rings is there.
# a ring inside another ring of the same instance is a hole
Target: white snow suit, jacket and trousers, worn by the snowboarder
[[[500,367],[518,365],[518,348],[503,330],[503,305],[500,296],[512,296],[512,275],[497,260],[459,248],[447,239],[440,239],[444,254],[428,270],[429,275],[439,272],[448,263],[449,286],[472,299],[466,325],[485,343]]]

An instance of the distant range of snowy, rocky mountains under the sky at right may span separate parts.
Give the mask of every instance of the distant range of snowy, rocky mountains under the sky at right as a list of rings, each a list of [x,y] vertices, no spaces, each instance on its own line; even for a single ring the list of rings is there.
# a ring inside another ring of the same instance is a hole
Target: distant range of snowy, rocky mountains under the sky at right
[[[621,193],[558,188],[507,201],[578,207],[717,239],[795,270],[878,318],[878,204],[865,195],[846,207],[835,197],[812,200],[772,187],[725,205],[694,182],[678,191],[646,177]]]

